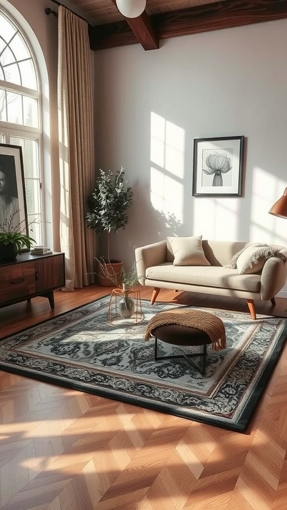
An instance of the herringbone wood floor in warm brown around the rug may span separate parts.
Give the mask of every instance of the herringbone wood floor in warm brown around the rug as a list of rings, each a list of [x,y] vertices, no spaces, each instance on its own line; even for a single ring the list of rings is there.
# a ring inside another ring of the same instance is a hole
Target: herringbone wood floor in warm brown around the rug
[[[109,293],[55,292],[0,310],[0,336]],[[150,290],[141,296],[149,298]],[[244,301],[161,291],[158,300],[247,311]],[[256,303],[287,317],[287,301]],[[285,510],[287,347],[245,433],[0,372],[3,510]]]

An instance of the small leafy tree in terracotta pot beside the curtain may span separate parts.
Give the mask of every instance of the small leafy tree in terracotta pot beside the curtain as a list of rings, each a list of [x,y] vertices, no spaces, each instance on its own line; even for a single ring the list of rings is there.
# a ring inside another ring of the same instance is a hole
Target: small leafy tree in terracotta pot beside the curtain
[[[109,274],[119,274],[120,279],[123,262],[111,258],[110,234],[126,227],[129,220],[127,210],[132,200],[132,189],[125,181],[122,166],[115,173],[99,170],[95,187],[87,199],[89,211],[86,213],[86,223],[98,235],[107,232],[107,257],[102,257],[101,264],[98,263],[100,285],[104,287],[114,285]]]

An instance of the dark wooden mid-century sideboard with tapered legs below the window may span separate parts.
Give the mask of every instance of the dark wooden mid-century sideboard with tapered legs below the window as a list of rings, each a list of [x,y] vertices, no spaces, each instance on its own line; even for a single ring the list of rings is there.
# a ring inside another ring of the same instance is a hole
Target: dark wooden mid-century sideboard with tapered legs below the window
[[[54,290],[65,286],[64,253],[31,255],[0,260],[0,308],[35,296],[47,297],[55,307]]]

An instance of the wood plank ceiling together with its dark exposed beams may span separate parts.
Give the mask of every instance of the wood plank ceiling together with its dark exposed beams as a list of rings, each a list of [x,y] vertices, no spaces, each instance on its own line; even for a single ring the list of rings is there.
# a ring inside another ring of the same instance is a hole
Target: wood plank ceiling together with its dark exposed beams
[[[161,39],[287,17],[287,0],[147,0],[137,18],[125,18],[115,0],[70,0],[69,6],[89,22],[93,50],[135,43],[158,49]]]

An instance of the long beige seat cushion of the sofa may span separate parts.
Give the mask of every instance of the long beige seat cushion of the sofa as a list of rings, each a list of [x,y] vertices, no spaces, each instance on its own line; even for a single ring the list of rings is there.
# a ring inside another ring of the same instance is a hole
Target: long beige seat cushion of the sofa
[[[150,280],[189,284],[248,292],[260,291],[260,274],[238,274],[237,269],[222,266],[174,266],[171,262],[148,267],[146,278]]]

